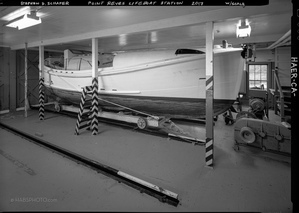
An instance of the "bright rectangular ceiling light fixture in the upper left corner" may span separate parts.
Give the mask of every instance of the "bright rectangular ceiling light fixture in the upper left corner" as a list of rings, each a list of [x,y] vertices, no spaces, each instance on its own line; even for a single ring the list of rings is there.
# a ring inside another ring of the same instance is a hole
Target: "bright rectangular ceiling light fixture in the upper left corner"
[[[18,30],[31,27],[42,23],[40,17],[36,16],[36,11],[31,11],[30,14],[20,16],[5,24],[7,27],[17,28]]]

